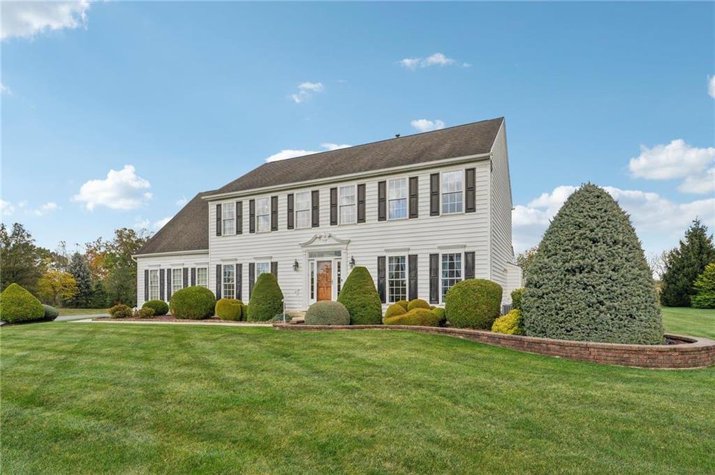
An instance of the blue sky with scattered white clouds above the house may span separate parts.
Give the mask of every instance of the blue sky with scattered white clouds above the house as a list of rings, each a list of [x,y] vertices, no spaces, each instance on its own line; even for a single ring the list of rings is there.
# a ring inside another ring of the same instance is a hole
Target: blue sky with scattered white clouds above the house
[[[2,9],[3,221],[42,246],[153,231],[276,154],[497,116],[517,250],[584,181],[647,251],[715,226],[712,3]]]

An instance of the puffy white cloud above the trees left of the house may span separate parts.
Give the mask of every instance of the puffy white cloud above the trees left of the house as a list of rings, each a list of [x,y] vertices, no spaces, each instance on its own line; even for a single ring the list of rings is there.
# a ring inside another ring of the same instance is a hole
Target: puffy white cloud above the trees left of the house
[[[149,181],[137,176],[133,165],[124,165],[116,171],[109,170],[103,180],[89,180],[79,188],[79,194],[72,201],[85,204],[89,211],[97,206],[110,209],[137,209],[152,198]]]

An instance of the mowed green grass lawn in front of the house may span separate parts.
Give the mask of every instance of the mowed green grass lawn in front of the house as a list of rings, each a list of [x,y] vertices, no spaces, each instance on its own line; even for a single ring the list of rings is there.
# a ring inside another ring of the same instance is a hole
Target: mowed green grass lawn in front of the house
[[[671,331],[711,331],[688,319],[666,311]],[[8,474],[715,472],[715,367],[400,331],[56,322],[0,337]]]

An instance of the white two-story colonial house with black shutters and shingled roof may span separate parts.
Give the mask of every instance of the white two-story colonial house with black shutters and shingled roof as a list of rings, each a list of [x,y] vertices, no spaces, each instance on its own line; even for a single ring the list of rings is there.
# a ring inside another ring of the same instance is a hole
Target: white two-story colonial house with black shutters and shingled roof
[[[272,272],[286,308],[335,300],[365,266],[383,303],[444,303],[490,279],[521,286],[503,118],[273,161],[194,197],[134,256],[137,296],[189,285],[247,302]]]

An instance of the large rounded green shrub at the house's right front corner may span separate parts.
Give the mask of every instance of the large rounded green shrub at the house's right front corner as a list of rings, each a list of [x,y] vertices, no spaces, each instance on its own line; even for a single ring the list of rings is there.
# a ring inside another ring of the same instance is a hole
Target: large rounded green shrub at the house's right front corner
[[[457,328],[488,330],[501,311],[501,285],[486,279],[454,284],[445,296],[445,311]]]

